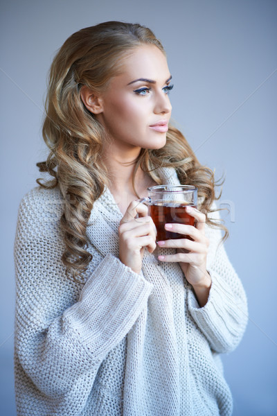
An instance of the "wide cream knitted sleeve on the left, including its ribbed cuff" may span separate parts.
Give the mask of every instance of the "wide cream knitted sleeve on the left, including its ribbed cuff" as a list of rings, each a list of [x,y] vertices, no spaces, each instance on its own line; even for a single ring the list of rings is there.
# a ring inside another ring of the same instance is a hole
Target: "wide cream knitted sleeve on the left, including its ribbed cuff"
[[[21,201],[15,237],[16,379],[31,380],[55,415],[75,415],[100,363],[145,309],[152,284],[107,254],[91,262],[80,288],[65,276],[57,222],[32,195]]]

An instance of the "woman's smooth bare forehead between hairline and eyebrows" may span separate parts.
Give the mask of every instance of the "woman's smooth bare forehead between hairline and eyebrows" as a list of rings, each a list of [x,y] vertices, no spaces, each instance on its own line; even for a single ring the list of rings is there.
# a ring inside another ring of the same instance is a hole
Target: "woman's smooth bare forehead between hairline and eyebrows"
[[[123,57],[119,77],[127,82],[149,78],[164,83],[170,77],[166,56],[155,45],[137,46]]]

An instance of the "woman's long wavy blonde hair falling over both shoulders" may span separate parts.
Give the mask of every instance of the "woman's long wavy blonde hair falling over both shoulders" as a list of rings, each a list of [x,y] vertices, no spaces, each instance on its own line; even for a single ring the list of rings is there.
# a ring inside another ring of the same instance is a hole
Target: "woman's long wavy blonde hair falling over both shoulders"
[[[91,261],[91,254],[86,250],[87,222],[93,202],[109,183],[100,157],[107,139],[105,130],[84,107],[80,89],[87,85],[96,92],[105,91],[109,80],[120,72],[123,56],[141,44],[154,44],[165,54],[161,42],[149,28],[107,21],[73,33],[51,65],[42,129],[50,153],[37,166],[53,179],[44,183],[37,179],[37,183],[44,188],[58,186],[62,192],[64,213],[60,225],[65,243],[62,261],[74,279],[82,276]],[[210,211],[215,199],[213,172],[199,164],[184,136],[172,125],[166,146],[159,150],[141,150],[134,175],[139,166],[157,183],[161,183],[156,172],[158,167],[175,167],[181,184],[198,188],[202,211],[205,214]],[[211,220],[207,222],[213,225]]]

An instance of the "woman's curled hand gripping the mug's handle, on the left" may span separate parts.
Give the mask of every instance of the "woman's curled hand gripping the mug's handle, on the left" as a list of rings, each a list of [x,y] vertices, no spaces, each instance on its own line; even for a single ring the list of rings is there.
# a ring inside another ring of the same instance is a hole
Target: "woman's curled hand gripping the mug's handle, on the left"
[[[152,253],[156,248],[157,230],[152,218],[148,216],[148,207],[132,201],[120,221],[118,234],[120,261],[139,274],[144,249],[147,248]]]

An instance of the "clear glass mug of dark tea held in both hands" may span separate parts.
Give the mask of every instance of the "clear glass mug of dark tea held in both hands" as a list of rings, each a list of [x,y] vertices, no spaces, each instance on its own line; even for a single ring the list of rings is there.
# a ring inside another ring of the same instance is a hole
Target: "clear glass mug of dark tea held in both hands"
[[[197,208],[197,188],[190,185],[157,185],[148,188],[148,197],[139,202],[148,205],[157,228],[157,241],[189,238],[165,229],[166,223],[195,225],[195,218],[186,211],[188,205]]]

